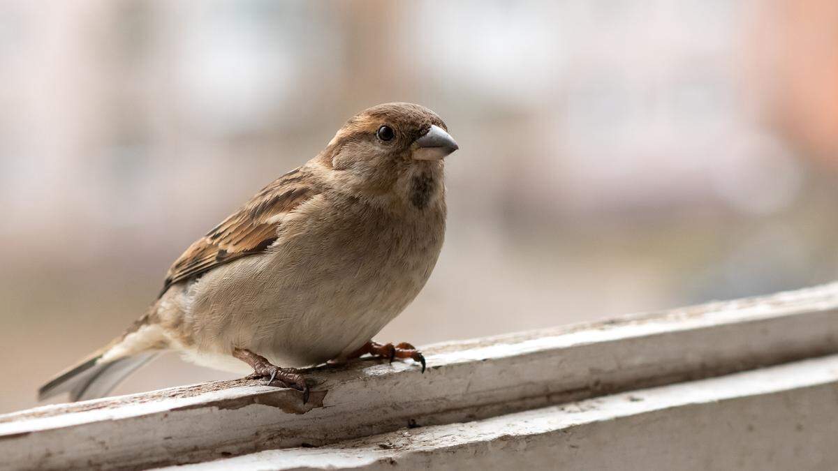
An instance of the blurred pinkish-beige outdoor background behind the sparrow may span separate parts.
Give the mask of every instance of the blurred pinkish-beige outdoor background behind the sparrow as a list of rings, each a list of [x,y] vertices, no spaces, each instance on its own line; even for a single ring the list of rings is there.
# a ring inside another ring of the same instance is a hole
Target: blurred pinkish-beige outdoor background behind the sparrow
[[[383,340],[838,277],[838,3],[0,1],[0,412],[368,106],[442,116],[449,229]],[[229,378],[158,360],[117,393]]]

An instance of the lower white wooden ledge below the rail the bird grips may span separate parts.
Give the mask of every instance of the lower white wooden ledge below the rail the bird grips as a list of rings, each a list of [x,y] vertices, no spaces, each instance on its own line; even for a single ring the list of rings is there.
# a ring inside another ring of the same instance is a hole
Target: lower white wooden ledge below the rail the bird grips
[[[838,463],[838,355],[562,406],[167,468],[823,469]]]

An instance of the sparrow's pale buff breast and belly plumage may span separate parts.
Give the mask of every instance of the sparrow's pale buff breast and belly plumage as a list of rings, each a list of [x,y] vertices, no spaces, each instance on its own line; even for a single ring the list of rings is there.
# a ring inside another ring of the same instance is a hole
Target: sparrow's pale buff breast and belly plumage
[[[287,215],[266,253],[170,288],[158,324],[128,334],[102,360],[163,346],[199,365],[246,373],[251,368],[232,349],[281,366],[359,349],[427,282],[442,248],[444,189],[440,182],[427,209],[402,214],[329,198],[318,195]]]

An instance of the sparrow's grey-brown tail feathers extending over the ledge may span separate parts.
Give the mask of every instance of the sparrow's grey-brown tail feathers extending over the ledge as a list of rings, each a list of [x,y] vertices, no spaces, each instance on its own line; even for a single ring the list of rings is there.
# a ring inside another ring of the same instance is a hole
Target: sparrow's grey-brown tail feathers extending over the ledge
[[[158,353],[158,351],[146,351],[115,360],[103,360],[104,352],[96,352],[41,386],[38,390],[38,400],[43,401],[63,392],[70,393],[70,401],[84,401],[107,396],[107,393],[116,385],[137,368],[153,360]]]

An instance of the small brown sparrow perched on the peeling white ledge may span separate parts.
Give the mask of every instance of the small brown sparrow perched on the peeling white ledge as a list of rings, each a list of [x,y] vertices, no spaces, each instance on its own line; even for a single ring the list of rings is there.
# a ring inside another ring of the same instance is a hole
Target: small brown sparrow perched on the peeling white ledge
[[[300,391],[299,368],[361,355],[425,358],[373,340],[422,290],[442,250],[445,158],[458,150],[424,106],[352,116],[323,151],[261,189],[184,251],[158,298],[105,347],[39,389],[39,400],[107,394],[176,351]]]

